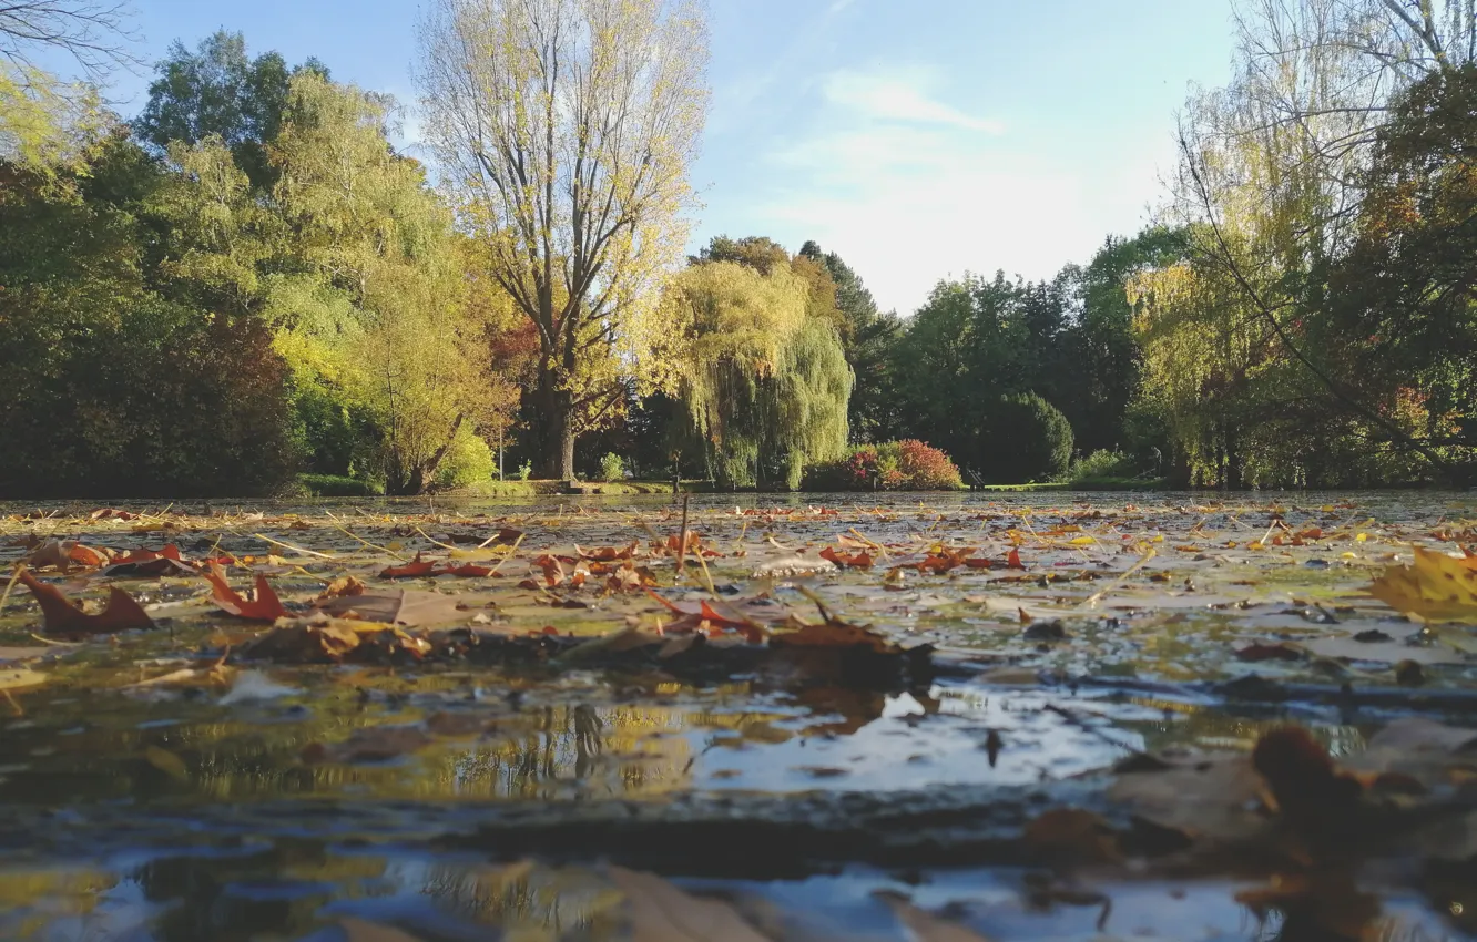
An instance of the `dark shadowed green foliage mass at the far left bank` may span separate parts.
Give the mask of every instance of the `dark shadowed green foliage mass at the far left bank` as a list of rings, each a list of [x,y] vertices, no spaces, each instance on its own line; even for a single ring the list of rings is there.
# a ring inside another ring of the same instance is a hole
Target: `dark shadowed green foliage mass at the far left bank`
[[[294,465],[285,369],[258,322],[154,288],[167,180],[121,136],[87,176],[0,165],[0,486],[28,495],[250,495]]]

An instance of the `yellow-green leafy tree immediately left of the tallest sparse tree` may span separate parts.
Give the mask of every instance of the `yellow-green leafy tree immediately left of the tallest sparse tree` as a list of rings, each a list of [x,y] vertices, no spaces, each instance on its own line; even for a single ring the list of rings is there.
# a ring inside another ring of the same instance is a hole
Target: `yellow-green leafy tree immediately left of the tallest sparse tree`
[[[513,387],[487,375],[487,298],[419,162],[390,148],[393,100],[294,75],[267,154],[291,258],[266,313],[300,381],[335,390],[378,430],[390,493],[428,487],[467,431],[505,425]]]

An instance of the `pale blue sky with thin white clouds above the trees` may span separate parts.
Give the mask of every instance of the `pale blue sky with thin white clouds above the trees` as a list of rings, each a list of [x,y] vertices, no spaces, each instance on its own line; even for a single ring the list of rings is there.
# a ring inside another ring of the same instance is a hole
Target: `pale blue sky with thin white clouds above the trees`
[[[390,92],[415,137],[418,4],[134,0],[139,56],[217,28]],[[1230,0],[709,0],[712,109],[691,250],[764,235],[839,252],[882,309],[941,278],[1050,278],[1162,199],[1174,114],[1226,81]],[[124,117],[148,68],[117,77]]]

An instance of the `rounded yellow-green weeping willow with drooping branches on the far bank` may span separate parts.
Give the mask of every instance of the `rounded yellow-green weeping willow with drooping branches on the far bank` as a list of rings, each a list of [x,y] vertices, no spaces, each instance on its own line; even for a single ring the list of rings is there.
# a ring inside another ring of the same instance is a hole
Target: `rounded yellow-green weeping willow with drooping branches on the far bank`
[[[668,292],[671,387],[682,422],[724,486],[799,487],[805,467],[846,447],[854,375],[836,329],[808,313],[809,291],[789,267],[696,264]]]

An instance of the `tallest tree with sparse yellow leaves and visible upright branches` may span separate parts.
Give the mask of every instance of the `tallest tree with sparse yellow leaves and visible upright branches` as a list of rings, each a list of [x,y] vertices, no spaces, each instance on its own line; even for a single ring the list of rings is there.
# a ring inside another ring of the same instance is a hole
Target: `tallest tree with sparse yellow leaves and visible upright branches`
[[[539,335],[541,464],[625,402],[663,334],[707,105],[685,0],[437,0],[421,27],[425,137],[464,226]]]

